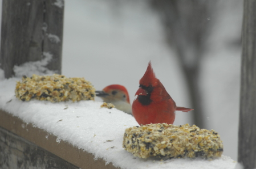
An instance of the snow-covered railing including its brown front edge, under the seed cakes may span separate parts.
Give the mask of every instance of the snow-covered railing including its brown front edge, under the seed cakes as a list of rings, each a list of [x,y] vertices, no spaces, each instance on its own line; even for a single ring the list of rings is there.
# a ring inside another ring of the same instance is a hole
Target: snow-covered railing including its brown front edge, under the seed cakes
[[[196,158],[160,161],[134,157],[122,147],[124,130],[138,125],[131,115],[115,108],[100,108],[102,103],[92,100],[75,103],[39,100],[22,102],[14,96],[15,84],[19,80],[20,78],[10,78],[0,81],[1,131],[7,130],[11,132],[10,135],[17,134],[18,137],[34,143],[74,166],[231,169],[237,164],[225,155],[214,160]],[[7,142],[5,145],[8,145]],[[14,154],[0,153],[6,159],[14,157]],[[34,155],[36,158],[38,154]],[[15,164],[25,165],[26,160],[16,160]],[[3,164],[2,158],[0,164]]]

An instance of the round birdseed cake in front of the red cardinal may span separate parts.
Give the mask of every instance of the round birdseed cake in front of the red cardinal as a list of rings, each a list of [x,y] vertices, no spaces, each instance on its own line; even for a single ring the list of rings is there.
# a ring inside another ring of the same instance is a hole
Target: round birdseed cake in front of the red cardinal
[[[223,153],[220,135],[196,125],[147,124],[124,133],[123,147],[135,157],[216,158]]]

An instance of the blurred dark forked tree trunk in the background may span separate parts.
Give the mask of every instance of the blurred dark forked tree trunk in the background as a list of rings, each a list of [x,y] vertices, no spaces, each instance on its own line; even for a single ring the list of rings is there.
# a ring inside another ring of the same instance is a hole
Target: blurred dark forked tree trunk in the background
[[[166,41],[174,49],[183,71],[194,111],[194,124],[206,128],[199,85],[201,58],[210,29],[214,2],[201,0],[151,0],[164,25]],[[210,8],[211,7],[211,8]]]

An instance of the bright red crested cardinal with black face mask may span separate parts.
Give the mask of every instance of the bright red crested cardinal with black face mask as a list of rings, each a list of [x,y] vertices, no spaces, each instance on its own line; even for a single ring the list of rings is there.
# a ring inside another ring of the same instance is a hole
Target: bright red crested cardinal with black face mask
[[[173,124],[175,111],[188,112],[193,110],[176,107],[162,83],[156,78],[150,61],[145,74],[140,79],[139,87],[135,94],[138,96],[132,103],[132,113],[140,125],[164,122]]]

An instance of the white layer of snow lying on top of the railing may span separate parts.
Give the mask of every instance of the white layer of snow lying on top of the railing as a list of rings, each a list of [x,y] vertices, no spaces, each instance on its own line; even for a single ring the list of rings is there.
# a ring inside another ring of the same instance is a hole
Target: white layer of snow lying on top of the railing
[[[159,161],[139,159],[122,147],[126,128],[137,125],[135,119],[115,108],[100,108],[101,102],[51,103],[32,100],[22,102],[14,96],[16,81],[0,81],[0,107],[27,123],[54,134],[57,139],[70,142],[79,149],[103,158],[121,168],[241,168],[230,157],[222,155],[214,160],[171,159]],[[22,126],[25,128],[25,126]]]

